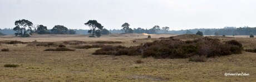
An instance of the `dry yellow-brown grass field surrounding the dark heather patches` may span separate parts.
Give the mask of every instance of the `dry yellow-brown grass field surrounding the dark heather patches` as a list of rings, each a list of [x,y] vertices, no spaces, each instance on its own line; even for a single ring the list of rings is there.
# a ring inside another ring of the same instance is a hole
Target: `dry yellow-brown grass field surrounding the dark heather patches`
[[[153,42],[160,37],[176,35],[152,35],[151,39],[142,34],[112,34],[101,38],[87,35],[33,35],[30,38],[3,36],[0,40],[22,42],[54,42],[80,40],[90,45],[96,41],[120,41],[130,47]],[[193,36],[175,37],[181,40],[194,39]],[[221,41],[238,40],[244,49],[256,48],[256,39],[248,36],[210,37]],[[136,42],[132,42],[136,40]],[[85,45],[85,44],[81,44]],[[76,45],[66,45],[75,49]],[[0,44],[0,81],[255,81],[256,54],[243,52],[224,57],[209,58],[198,63],[189,59],[155,59],[141,56],[92,55],[95,50],[75,49],[68,52],[44,52],[55,47],[27,46],[27,44]],[[137,64],[136,60],[144,63]],[[16,68],[6,68],[5,64],[17,64]],[[249,76],[224,76],[224,73],[247,73]]]

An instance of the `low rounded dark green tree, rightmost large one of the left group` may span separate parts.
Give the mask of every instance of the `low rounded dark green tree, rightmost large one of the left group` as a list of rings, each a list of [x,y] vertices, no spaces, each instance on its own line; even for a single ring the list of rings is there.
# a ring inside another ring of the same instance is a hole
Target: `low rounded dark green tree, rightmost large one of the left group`
[[[64,27],[63,25],[55,25],[51,29],[52,34],[67,34],[68,29]]]

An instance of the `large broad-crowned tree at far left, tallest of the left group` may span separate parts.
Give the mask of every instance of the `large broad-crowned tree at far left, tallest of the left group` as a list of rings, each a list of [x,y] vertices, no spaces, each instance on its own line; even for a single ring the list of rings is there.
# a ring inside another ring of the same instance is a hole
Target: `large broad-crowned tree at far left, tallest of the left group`
[[[26,19],[22,19],[16,20],[14,24],[16,25],[16,27],[13,28],[13,30],[16,31],[15,35],[21,35],[21,37],[29,37],[29,34],[32,32],[32,22]]]

